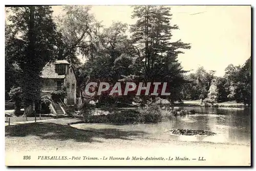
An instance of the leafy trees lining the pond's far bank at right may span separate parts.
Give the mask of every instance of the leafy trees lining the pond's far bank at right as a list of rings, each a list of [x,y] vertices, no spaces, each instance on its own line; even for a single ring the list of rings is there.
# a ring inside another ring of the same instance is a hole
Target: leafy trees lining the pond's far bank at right
[[[228,65],[224,77],[215,77],[214,71],[205,71],[200,67],[196,73],[186,76],[182,87],[183,99],[204,99],[205,103],[236,100],[251,103],[251,57],[243,66]],[[216,79],[216,90],[210,90],[210,82]],[[217,93],[218,92],[218,93]]]

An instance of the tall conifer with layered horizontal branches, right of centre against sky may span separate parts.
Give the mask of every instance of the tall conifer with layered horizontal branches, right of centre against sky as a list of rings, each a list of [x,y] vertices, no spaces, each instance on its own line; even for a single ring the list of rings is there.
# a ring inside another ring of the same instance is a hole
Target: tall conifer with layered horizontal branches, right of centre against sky
[[[169,90],[175,92],[184,80],[177,57],[183,53],[180,49],[190,46],[181,40],[172,41],[172,30],[178,26],[170,24],[171,16],[166,6],[135,6],[132,17],[137,22],[131,26],[131,38],[137,52],[135,68],[139,76],[144,82],[172,82]]]

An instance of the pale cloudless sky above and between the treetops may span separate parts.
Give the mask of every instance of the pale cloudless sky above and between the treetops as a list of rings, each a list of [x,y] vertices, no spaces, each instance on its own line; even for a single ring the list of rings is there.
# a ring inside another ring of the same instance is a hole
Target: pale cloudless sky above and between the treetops
[[[173,14],[171,24],[173,41],[181,39],[191,44],[178,56],[184,70],[195,72],[203,66],[223,76],[225,68],[232,63],[243,65],[251,56],[251,7],[250,6],[170,6]],[[53,6],[53,15],[61,13],[61,6]],[[91,12],[105,27],[113,21],[129,25],[131,6],[93,6]]]

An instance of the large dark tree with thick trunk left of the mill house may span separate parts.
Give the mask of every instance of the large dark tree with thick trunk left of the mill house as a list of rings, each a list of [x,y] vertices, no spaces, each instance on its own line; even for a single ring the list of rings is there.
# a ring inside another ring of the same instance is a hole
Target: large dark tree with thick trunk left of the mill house
[[[12,37],[7,52],[12,53],[10,56],[23,71],[24,115],[29,115],[33,103],[40,100],[40,72],[56,56],[56,27],[50,6],[12,7],[11,10]]]

